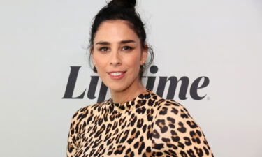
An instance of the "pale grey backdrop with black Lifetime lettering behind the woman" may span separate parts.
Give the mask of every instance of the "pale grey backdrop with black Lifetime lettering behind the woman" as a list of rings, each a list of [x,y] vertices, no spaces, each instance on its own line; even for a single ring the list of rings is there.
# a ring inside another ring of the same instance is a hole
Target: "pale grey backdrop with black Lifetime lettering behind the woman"
[[[110,98],[89,68],[94,15],[105,0],[0,5],[0,151],[66,156],[71,118]],[[262,1],[138,1],[154,62],[145,87],[184,105],[214,156],[262,156]]]

